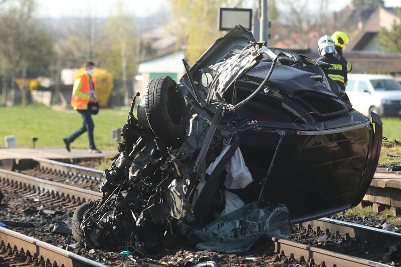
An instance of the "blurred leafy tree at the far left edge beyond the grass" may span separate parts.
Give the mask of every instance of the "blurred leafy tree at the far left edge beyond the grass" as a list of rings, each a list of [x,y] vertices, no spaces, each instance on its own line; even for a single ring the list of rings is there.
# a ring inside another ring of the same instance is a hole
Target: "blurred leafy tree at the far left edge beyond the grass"
[[[26,78],[28,71],[48,73],[54,61],[51,33],[34,17],[34,0],[13,2],[0,13],[0,69],[2,74]],[[27,103],[26,86],[23,104]]]

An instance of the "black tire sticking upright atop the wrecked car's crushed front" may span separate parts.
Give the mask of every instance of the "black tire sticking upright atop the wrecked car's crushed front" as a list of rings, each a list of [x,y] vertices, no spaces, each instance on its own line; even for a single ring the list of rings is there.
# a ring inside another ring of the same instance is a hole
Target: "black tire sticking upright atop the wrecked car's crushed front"
[[[150,129],[161,140],[172,141],[185,134],[185,100],[169,76],[150,80],[145,91],[145,111]]]

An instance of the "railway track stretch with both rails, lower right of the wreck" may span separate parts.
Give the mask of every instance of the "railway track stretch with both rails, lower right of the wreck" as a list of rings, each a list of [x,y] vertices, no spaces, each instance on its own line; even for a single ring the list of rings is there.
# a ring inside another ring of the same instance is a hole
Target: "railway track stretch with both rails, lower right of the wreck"
[[[377,248],[383,249],[383,251],[380,250],[377,254],[384,256],[388,247],[395,247],[401,241],[400,233],[331,218],[321,218],[292,225],[292,231],[295,233],[291,234],[295,242],[273,238],[275,241],[275,252],[283,254],[280,250],[282,249],[287,256],[288,253],[294,253],[292,258],[300,258],[304,255],[303,261],[308,262],[307,258],[309,260],[313,258],[313,262],[316,264],[325,261],[326,266],[332,266],[333,264],[336,264],[336,266],[389,266],[349,254],[354,252],[358,254],[358,249],[361,249],[362,253],[369,252],[369,255],[372,254],[371,256],[373,256],[374,253],[370,253],[370,250]],[[329,244],[326,244],[325,241],[316,241],[317,238],[323,235],[326,235]],[[336,244],[338,244],[337,247]],[[319,245],[323,247],[328,246],[328,248],[322,249],[317,247]],[[350,247],[348,253],[344,254],[335,251],[337,249],[341,250],[345,245]],[[368,247],[370,250],[365,250],[365,247]],[[286,249],[288,252],[286,252]],[[277,256],[276,259],[278,260]],[[288,262],[288,258],[286,262]]]

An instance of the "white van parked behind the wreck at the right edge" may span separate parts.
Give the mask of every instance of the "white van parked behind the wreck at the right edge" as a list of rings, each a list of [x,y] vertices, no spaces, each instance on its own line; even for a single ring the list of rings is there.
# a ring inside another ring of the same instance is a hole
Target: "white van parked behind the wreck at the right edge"
[[[391,76],[348,74],[345,92],[352,107],[366,117],[370,111],[381,117],[401,116],[401,85]]]

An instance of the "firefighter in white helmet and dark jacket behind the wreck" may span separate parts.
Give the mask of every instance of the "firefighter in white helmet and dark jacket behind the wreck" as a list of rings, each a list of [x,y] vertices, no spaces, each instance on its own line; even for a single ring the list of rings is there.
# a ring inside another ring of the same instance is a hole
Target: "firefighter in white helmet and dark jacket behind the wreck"
[[[338,84],[342,91],[345,91],[345,86],[348,81],[347,68],[341,60],[334,56],[333,39],[328,35],[321,37],[317,42],[317,49],[321,56],[318,60],[331,65],[331,68],[327,70],[328,76]]]

